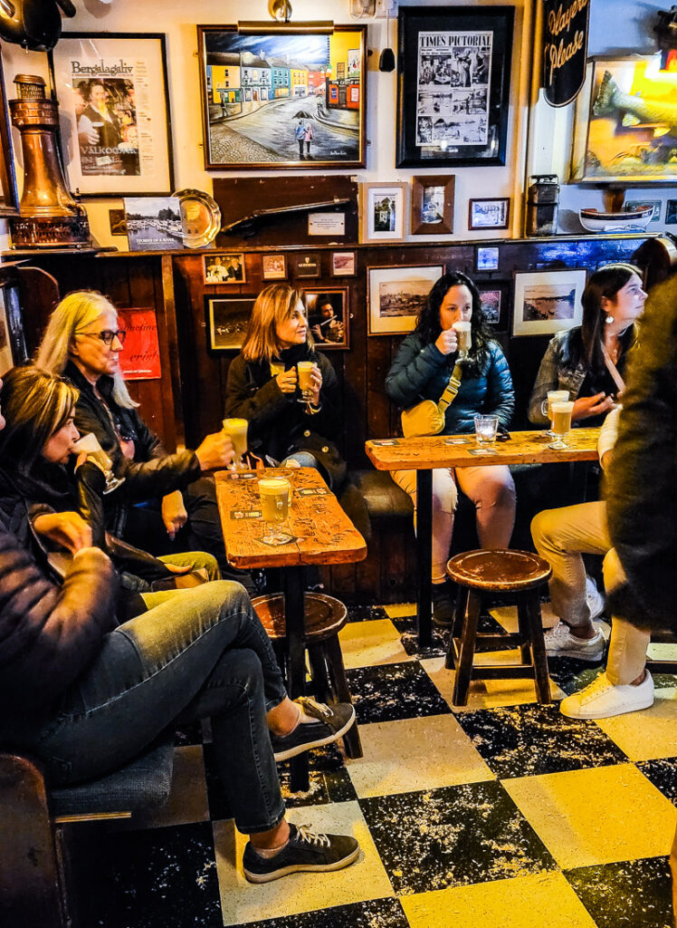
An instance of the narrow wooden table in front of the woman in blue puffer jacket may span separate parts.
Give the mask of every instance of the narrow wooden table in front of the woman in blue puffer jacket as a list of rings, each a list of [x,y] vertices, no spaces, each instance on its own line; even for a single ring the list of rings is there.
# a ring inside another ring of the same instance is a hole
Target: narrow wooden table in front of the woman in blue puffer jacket
[[[416,619],[418,641],[432,640],[430,572],[432,568],[432,471],[444,467],[490,464],[550,464],[597,459],[599,429],[572,429],[568,447],[557,451],[542,430],[511,432],[507,442],[479,448],[475,435],[431,435],[372,439],[364,445],[377,470],[416,471]]]

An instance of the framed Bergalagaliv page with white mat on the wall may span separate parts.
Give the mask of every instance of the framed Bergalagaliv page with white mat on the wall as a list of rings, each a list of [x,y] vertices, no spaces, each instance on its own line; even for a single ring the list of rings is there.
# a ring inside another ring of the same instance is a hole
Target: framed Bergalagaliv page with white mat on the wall
[[[70,187],[96,197],[172,193],[164,34],[64,32],[50,56]]]

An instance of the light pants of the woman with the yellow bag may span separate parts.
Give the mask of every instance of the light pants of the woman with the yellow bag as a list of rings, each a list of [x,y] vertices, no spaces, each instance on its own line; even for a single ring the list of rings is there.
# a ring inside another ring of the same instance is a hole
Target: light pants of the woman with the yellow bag
[[[416,471],[392,470],[390,476],[416,505]],[[479,544],[507,548],[515,524],[515,483],[503,465],[492,467],[436,468],[432,471],[432,582],[446,576],[452,544],[456,483],[475,504]]]

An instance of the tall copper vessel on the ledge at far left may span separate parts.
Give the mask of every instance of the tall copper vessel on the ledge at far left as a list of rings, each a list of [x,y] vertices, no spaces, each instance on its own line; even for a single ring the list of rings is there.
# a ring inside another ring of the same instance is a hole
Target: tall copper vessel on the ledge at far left
[[[9,100],[12,124],[21,134],[23,192],[19,216],[10,222],[14,248],[83,247],[91,244],[83,206],[73,200],[58,147],[58,103],[46,99],[45,81],[17,74],[19,99]]]

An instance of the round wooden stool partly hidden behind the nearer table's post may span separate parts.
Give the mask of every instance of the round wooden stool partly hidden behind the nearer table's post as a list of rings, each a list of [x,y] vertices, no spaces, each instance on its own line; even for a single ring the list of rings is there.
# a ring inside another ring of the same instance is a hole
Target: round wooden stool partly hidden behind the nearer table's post
[[[257,596],[251,600],[251,604],[258,613],[268,638],[273,641],[279,661],[287,636],[284,594]],[[346,668],[338,641],[338,632],[348,621],[348,610],[339,599],[325,596],[323,593],[305,593],[304,604],[305,646],[311,664],[315,696],[320,702],[352,704],[351,690],[348,688]],[[343,744],[349,757],[362,757],[357,722],[343,736]]]

